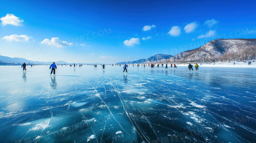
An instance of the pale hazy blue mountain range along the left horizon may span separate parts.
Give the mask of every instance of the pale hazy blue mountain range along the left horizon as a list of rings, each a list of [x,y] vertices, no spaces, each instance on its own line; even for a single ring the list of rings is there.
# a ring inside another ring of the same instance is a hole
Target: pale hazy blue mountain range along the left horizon
[[[38,61],[30,61],[24,58],[17,59],[16,58],[10,58],[6,56],[0,56],[0,63],[31,63],[31,64],[52,64],[53,62],[38,62]],[[65,61],[57,61],[56,64],[74,64],[74,63],[67,63]],[[75,63],[75,64],[101,64],[101,63]]]

